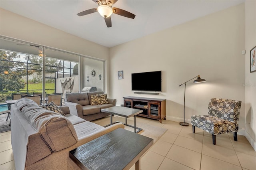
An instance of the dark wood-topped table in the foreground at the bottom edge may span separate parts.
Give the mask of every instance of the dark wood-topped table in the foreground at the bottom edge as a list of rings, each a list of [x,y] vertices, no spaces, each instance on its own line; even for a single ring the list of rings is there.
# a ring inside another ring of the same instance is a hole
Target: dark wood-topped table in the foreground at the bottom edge
[[[69,157],[83,170],[140,170],[141,156],[153,139],[123,128],[100,136],[71,150]]]

